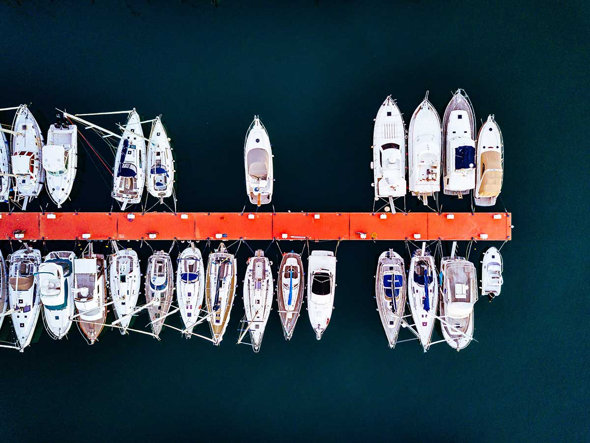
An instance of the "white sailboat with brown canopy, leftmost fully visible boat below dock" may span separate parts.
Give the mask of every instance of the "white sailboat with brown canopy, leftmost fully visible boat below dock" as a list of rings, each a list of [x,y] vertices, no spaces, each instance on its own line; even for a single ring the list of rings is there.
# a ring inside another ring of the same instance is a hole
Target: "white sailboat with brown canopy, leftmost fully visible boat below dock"
[[[12,325],[17,334],[19,350],[31,344],[35,326],[41,312],[35,273],[41,264],[41,252],[25,245],[8,257],[8,299],[11,306]]]

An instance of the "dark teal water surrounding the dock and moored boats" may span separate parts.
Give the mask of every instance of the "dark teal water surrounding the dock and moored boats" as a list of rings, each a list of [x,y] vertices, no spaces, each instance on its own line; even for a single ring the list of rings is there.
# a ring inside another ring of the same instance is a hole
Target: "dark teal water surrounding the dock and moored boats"
[[[260,354],[235,346],[238,298],[219,348],[172,330],[160,342],[106,331],[89,347],[73,328],[65,342],[44,333],[24,354],[2,350],[5,441],[588,441],[586,4],[5,0],[0,14],[2,107],[32,102],[44,132],[55,106],[162,113],[179,210],[242,209],[242,147],[257,113],[273,142],[277,211],[369,211],[372,119],[385,96],[408,123],[426,90],[442,113],[463,87],[478,121],[494,113],[503,131],[493,210],[505,204],[515,225],[502,294],[480,299],[478,343],[461,353],[440,344],[424,354],[415,341],[389,350],[374,268],[379,252],[405,245],[342,243],[319,342],[307,312],[285,342],[275,311]],[[96,157],[79,158],[64,210],[109,210],[106,174]],[[74,244],[45,250],[58,247]],[[149,247],[140,253],[145,263]],[[268,253],[276,263],[277,247]],[[249,254],[238,252],[240,281]]]

